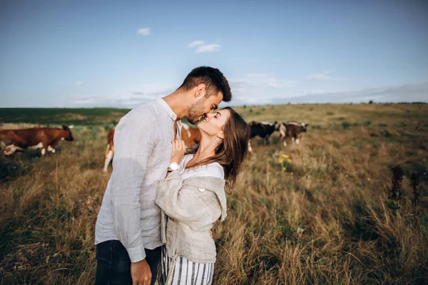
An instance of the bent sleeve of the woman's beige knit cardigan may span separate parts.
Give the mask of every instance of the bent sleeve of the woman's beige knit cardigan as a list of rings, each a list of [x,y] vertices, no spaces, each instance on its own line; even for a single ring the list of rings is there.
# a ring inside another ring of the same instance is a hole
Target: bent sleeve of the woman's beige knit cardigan
[[[198,193],[183,185],[179,171],[175,170],[161,180],[156,193],[156,204],[168,215],[179,222],[185,222],[190,227],[208,224],[212,219],[210,207],[205,204],[200,195],[213,193]]]

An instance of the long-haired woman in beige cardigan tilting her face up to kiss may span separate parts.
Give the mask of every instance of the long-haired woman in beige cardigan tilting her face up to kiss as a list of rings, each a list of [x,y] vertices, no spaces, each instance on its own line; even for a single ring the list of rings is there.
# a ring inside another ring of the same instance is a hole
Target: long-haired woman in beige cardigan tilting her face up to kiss
[[[198,129],[200,144],[187,155],[184,142],[173,141],[170,162],[180,168],[168,168],[158,185],[165,242],[160,285],[212,283],[216,252],[210,229],[226,217],[225,182],[232,190],[247,152],[250,127],[232,108],[207,115]]]

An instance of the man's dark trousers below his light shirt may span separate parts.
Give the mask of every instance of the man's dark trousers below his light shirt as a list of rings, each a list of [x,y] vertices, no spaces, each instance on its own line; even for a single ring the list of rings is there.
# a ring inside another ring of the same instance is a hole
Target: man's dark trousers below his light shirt
[[[161,248],[146,249],[146,261],[152,273],[151,285],[158,276]],[[132,285],[131,259],[123,244],[117,240],[96,245],[96,285]]]

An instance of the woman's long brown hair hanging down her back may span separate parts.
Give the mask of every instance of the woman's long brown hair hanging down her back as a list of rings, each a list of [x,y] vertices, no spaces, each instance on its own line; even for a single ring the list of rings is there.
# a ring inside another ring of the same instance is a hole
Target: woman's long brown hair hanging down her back
[[[250,140],[250,126],[245,120],[230,107],[225,107],[222,110],[229,110],[230,115],[225,123],[223,132],[225,138],[220,145],[215,149],[215,155],[205,158],[192,167],[208,165],[213,162],[218,162],[223,166],[225,171],[225,180],[229,182],[228,193],[235,185],[236,177],[238,176],[243,164],[245,155],[248,152],[248,140]],[[199,148],[199,145],[190,148],[188,154],[194,154]]]

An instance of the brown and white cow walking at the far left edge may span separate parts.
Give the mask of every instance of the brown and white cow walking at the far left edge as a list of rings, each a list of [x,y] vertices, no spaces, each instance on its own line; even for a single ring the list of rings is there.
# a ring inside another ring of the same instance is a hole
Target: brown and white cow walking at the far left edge
[[[55,153],[55,147],[60,140],[73,141],[72,126],[62,128],[30,128],[22,130],[0,130],[0,141],[6,145],[5,155],[13,155],[16,150],[37,150],[41,155],[46,150]]]

